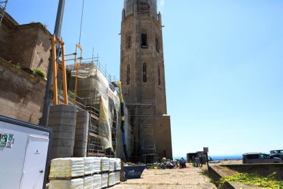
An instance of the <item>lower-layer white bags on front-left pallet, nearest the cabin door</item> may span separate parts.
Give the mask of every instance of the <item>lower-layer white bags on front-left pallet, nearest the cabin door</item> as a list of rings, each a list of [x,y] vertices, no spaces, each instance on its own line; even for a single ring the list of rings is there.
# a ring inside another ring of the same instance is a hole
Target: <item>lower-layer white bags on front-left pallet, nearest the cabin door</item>
[[[51,189],[62,189],[62,188],[83,189],[83,179],[51,180],[49,183],[49,188]]]

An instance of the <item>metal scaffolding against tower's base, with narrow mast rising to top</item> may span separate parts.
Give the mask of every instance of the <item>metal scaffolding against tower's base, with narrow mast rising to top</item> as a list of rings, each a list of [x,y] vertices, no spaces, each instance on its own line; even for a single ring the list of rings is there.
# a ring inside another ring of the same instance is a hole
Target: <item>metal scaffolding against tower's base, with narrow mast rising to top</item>
[[[138,0],[138,31],[142,34],[142,16],[150,13],[150,4],[147,0]],[[142,38],[139,38],[139,44],[142,45]],[[142,62],[142,47],[139,45],[139,75],[138,75],[138,96],[134,101],[125,101],[131,115],[131,125],[133,125],[133,154],[131,161],[154,163],[158,162],[157,150],[154,144],[153,137],[153,109],[155,100],[145,100],[142,92],[143,79],[143,62]],[[137,138],[135,138],[137,137]]]

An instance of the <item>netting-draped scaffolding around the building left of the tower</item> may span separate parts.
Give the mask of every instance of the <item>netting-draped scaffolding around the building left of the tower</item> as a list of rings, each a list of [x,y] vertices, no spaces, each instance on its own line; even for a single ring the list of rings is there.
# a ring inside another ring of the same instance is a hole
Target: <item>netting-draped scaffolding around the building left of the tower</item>
[[[74,66],[68,66],[70,85],[69,105],[74,105]],[[87,110],[90,114],[89,134],[87,138],[87,156],[123,157],[122,131],[120,131],[120,99],[118,88],[114,86],[116,77],[111,77],[106,68],[100,66],[98,57],[87,58],[81,63],[77,85],[75,106]],[[59,91],[59,101],[63,93]],[[106,102],[106,103],[105,103]],[[127,119],[127,117],[126,117]],[[125,121],[126,122],[126,121]],[[126,124],[127,140],[131,140],[131,125]],[[128,145],[131,151],[131,145]],[[122,158],[123,159],[123,158]]]

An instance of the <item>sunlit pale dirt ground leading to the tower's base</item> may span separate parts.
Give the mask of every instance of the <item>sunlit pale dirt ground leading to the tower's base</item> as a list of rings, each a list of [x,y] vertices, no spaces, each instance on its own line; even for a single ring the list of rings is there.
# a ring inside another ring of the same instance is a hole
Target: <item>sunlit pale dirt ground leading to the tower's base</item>
[[[140,179],[128,179],[112,188],[216,188],[211,179],[202,175],[207,165],[176,169],[146,169]]]

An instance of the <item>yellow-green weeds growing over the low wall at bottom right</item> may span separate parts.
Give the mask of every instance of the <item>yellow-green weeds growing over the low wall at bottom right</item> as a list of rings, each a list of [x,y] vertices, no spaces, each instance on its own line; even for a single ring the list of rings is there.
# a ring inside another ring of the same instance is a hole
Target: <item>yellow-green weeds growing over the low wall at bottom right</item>
[[[219,188],[222,188],[225,181],[232,181],[240,184],[260,186],[264,188],[283,188],[283,181],[277,181],[273,174],[262,177],[257,173],[237,173],[232,176],[222,177],[219,181]]]

